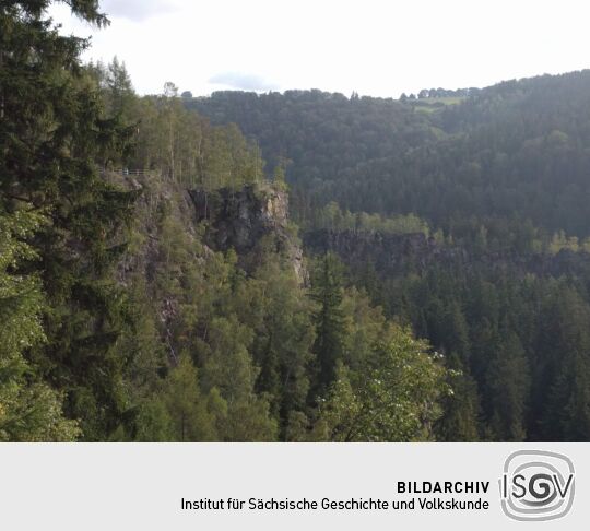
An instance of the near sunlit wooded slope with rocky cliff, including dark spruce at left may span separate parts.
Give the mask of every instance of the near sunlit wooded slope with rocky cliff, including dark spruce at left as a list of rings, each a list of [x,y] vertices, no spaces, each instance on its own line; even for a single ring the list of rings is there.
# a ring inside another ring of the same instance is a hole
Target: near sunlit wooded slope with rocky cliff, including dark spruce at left
[[[303,256],[281,166],[49,4],[0,5],[0,441],[434,440],[451,373]]]

